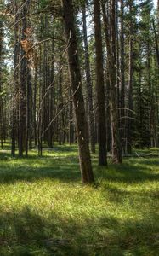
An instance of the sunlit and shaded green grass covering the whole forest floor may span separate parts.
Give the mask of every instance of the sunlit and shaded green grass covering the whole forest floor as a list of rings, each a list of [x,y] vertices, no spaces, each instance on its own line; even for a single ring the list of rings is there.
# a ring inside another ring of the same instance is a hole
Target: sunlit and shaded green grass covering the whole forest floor
[[[32,150],[27,160],[4,149],[0,255],[159,255],[159,157],[105,168],[94,154],[96,183],[83,186],[76,146],[45,149],[41,158]]]

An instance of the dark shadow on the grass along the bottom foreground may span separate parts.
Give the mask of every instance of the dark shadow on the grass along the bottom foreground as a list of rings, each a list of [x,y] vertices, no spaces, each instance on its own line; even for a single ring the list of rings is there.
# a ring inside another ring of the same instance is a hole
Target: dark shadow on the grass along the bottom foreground
[[[112,217],[61,218],[53,212],[43,218],[25,207],[0,214],[0,255],[158,255],[156,216],[120,222]]]

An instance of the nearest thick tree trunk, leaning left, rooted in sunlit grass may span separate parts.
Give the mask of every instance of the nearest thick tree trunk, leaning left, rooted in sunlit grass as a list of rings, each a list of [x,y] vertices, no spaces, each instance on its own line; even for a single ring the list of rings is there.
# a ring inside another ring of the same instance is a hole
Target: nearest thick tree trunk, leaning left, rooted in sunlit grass
[[[92,183],[94,182],[94,174],[92,171],[90,152],[88,148],[88,125],[82,95],[82,79],[78,59],[77,36],[72,0],[62,0],[62,6],[63,20],[65,24],[65,36],[67,42],[69,43],[67,53],[71,75],[72,99],[76,117],[77,141],[82,182]]]

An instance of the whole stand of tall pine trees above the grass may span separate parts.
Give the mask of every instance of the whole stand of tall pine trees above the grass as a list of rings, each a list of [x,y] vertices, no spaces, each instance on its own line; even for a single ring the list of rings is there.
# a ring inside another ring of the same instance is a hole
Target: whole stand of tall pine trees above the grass
[[[159,144],[159,5],[151,0],[0,4],[0,140],[11,154],[78,143],[99,165]]]

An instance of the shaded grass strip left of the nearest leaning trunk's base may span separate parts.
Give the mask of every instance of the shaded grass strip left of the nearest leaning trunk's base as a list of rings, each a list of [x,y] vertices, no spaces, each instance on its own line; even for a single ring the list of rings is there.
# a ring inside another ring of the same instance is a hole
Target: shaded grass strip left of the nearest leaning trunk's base
[[[36,165],[36,166],[35,166]],[[20,164],[11,165],[3,162],[0,166],[0,183],[17,181],[34,182],[38,179],[50,178],[62,183],[80,182],[80,170],[76,160],[21,160]]]

